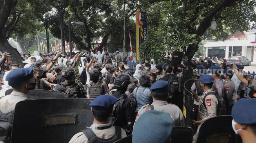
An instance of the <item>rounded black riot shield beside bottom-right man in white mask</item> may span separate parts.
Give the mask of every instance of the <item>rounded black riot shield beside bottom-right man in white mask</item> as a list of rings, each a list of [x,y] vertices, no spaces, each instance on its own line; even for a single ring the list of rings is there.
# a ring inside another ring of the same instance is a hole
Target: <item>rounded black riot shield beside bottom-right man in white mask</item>
[[[232,129],[232,116],[216,116],[203,121],[196,132],[195,143],[241,143]]]

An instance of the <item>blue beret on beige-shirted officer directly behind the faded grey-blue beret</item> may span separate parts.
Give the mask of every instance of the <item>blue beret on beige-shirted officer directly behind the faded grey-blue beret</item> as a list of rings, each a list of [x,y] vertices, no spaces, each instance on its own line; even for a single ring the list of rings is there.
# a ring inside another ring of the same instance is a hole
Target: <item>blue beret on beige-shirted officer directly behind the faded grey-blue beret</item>
[[[164,93],[169,91],[168,81],[165,80],[158,80],[150,87],[150,90],[155,93]]]

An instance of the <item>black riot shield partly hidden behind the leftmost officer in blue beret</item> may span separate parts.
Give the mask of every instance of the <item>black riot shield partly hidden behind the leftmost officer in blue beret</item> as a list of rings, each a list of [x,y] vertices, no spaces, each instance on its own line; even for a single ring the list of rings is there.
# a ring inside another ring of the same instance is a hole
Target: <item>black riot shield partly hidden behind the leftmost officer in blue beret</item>
[[[5,95],[9,95],[11,92],[13,92],[13,89],[5,91]],[[65,98],[65,93],[63,92],[42,89],[29,90],[27,95],[31,99]]]

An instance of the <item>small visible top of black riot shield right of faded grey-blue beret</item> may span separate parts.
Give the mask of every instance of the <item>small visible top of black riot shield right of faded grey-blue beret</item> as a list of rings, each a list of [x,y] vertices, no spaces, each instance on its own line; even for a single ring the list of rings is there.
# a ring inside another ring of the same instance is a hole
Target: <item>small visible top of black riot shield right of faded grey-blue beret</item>
[[[191,127],[173,127],[172,143],[192,143],[193,129]]]

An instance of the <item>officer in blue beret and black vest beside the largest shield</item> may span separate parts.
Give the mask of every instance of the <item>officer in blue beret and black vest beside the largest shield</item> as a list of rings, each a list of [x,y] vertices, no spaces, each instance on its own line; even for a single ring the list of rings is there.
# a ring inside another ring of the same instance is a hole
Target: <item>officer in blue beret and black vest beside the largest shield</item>
[[[126,137],[126,133],[121,127],[109,123],[116,100],[116,97],[110,95],[96,97],[89,105],[94,117],[93,125],[75,134],[69,143],[113,143]]]

